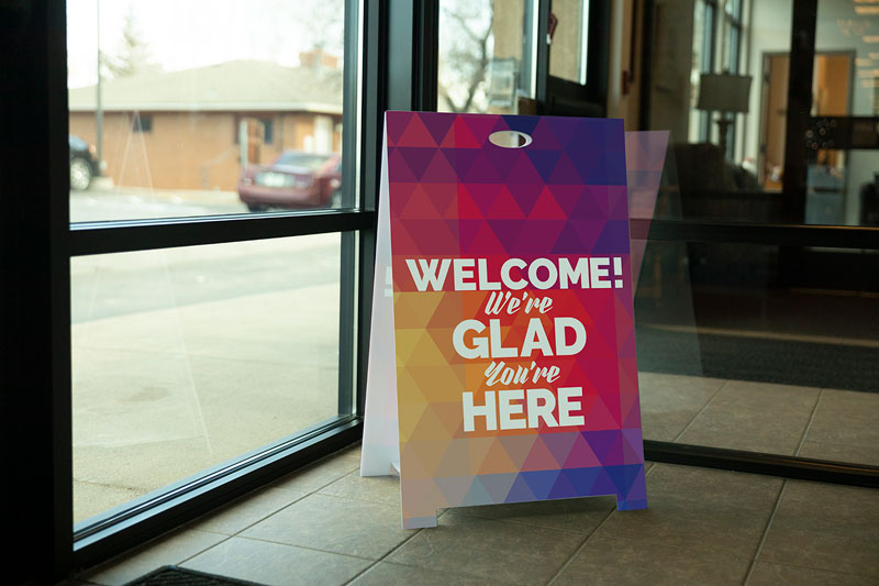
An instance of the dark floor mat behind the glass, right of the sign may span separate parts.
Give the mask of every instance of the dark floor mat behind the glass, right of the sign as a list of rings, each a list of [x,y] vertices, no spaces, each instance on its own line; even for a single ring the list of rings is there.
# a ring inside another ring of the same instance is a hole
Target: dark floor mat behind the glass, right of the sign
[[[638,369],[879,392],[874,347],[638,328]]]

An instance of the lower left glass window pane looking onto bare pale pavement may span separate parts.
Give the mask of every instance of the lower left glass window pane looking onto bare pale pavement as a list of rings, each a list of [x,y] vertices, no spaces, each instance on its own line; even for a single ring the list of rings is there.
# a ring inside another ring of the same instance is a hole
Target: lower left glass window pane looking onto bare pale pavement
[[[340,250],[336,233],[71,261],[76,521],[347,414]]]

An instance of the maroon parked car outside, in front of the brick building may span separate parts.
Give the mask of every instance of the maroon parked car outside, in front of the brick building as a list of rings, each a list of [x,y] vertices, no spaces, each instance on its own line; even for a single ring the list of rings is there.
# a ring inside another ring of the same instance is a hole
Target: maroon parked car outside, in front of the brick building
[[[238,197],[251,211],[337,208],[341,188],[338,155],[285,151],[270,165],[248,166],[238,180]]]

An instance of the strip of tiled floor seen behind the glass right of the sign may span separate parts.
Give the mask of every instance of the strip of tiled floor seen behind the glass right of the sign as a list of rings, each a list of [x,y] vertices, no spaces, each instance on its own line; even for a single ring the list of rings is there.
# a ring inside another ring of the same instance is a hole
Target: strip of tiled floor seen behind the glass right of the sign
[[[879,466],[879,394],[639,373],[644,438]]]

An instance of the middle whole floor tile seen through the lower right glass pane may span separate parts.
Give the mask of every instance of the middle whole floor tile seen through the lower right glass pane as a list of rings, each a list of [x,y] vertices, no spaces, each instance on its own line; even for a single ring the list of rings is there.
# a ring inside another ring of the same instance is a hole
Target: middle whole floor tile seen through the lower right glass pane
[[[820,389],[730,380],[680,443],[793,455]]]

